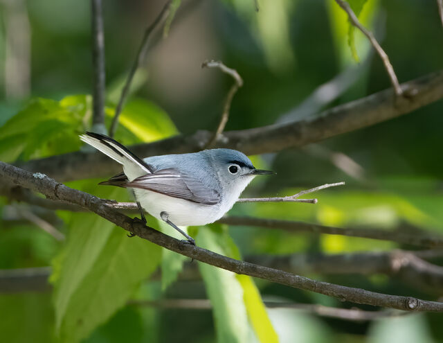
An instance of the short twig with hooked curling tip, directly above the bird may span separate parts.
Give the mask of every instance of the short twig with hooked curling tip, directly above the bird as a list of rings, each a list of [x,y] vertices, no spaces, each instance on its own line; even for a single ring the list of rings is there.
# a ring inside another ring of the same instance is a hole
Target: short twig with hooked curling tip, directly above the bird
[[[230,110],[230,104],[233,102],[233,98],[235,93],[237,93],[237,90],[239,87],[243,86],[243,79],[241,76],[239,76],[239,73],[235,69],[230,69],[226,67],[223,62],[221,61],[205,61],[201,64],[201,68],[218,68],[224,73],[227,73],[228,75],[232,76],[234,79],[234,84],[230,87],[228,91],[228,95],[226,96],[226,100],[223,107],[223,113],[221,114],[219,125],[217,126],[217,130],[215,130],[213,137],[210,139],[208,144],[206,145],[206,149],[211,148],[214,146],[215,142],[219,138],[221,132],[223,132],[224,128],[226,127],[226,123],[228,123],[229,119],[229,110]]]

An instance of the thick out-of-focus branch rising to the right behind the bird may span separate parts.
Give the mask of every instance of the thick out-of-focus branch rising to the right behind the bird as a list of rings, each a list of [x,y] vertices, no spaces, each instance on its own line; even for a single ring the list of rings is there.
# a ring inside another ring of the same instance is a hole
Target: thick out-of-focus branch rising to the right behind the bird
[[[262,154],[305,146],[308,143],[387,121],[443,98],[443,71],[406,82],[401,87],[405,91],[415,89],[416,93],[410,98],[401,97],[395,101],[392,89],[386,89],[327,109],[317,116],[302,121],[225,132],[224,141],[217,142],[216,147],[241,150],[246,155]],[[199,131],[190,136],[179,135],[153,143],[138,144],[130,149],[140,157],[195,152],[204,148],[211,136],[210,132]],[[17,166],[39,171],[61,182],[111,175],[119,173],[121,168],[99,152],[90,154],[71,152],[19,163]]]

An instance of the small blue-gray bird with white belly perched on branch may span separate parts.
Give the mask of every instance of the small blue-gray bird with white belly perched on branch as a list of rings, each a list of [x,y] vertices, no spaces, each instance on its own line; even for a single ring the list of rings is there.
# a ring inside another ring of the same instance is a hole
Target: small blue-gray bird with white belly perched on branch
[[[188,242],[195,241],[177,225],[206,225],[221,218],[256,175],[242,152],[211,149],[181,155],[140,159],[125,146],[104,134],[86,132],[80,139],[123,166],[123,173],[100,184],[132,188],[141,218],[143,209],[174,227]]]

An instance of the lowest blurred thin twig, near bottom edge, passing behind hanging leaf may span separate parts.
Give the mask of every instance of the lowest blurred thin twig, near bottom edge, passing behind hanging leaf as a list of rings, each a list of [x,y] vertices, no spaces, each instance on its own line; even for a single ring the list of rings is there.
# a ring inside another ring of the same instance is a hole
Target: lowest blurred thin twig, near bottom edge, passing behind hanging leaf
[[[263,301],[267,308],[291,308],[313,313],[322,317],[332,317],[356,322],[370,321],[386,317],[407,315],[407,312],[397,310],[365,311],[359,308],[334,308],[316,304],[296,304],[282,301]],[[132,300],[128,302],[134,306],[149,306],[154,308],[174,310],[211,310],[209,299],[161,299],[161,300]]]

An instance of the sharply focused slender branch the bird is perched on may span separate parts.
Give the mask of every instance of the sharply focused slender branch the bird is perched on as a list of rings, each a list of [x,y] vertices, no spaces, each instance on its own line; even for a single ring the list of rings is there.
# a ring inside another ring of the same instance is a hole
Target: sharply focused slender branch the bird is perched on
[[[207,249],[183,243],[151,227],[146,227],[138,220],[133,220],[122,213],[118,213],[116,210],[106,206],[106,202],[103,202],[98,197],[69,188],[45,175],[32,174],[1,161],[0,176],[9,179],[10,182],[19,186],[38,191],[51,199],[71,202],[72,204],[77,204],[85,209],[89,209],[102,218],[113,222],[115,225],[173,252],[178,252],[184,256],[194,258],[197,261],[208,263],[215,267],[221,267],[237,274],[258,277],[271,282],[281,283],[282,285],[289,285],[293,288],[336,297],[343,301],[352,301],[357,304],[369,304],[373,306],[397,308],[399,310],[443,312],[443,303],[441,302],[426,301],[415,297],[381,294],[359,288],[350,288],[334,283],[316,281],[281,270],[237,261],[233,258],[210,252]]]

